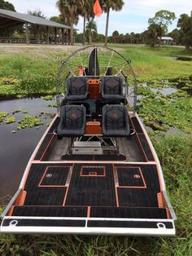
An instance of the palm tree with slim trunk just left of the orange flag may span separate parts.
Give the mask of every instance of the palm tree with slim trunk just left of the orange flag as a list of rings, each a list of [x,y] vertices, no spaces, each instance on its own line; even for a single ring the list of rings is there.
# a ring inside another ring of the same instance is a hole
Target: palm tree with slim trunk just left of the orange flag
[[[94,0],[80,0],[77,2],[78,11],[83,16],[83,45],[85,45],[85,25],[86,20],[89,20],[90,17],[94,18],[93,6]]]

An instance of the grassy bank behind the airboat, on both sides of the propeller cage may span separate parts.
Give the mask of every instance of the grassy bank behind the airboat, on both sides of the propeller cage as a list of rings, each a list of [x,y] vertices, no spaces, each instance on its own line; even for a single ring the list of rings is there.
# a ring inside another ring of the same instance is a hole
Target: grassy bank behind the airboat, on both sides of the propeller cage
[[[191,57],[192,53],[185,52],[181,47],[162,46],[151,49],[149,46],[109,46],[132,60],[140,81],[192,75],[192,61],[174,60],[174,57],[181,55]],[[54,90],[60,60],[73,50],[76,50],[76,46],[0,46],[0,96],[6,95],[6,91],[15,96],[42,93],[43,88],[44,92]]]

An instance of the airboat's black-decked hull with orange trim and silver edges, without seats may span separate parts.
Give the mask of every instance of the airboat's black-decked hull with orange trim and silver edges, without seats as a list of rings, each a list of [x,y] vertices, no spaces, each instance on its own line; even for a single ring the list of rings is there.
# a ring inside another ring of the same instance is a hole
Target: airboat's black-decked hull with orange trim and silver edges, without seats
[[[76,154],[63,161],[56,115],[2,214],[0,232],[174,236],[175,214],[155,149],[137,114],[129,117],[135,134],[120,142],[126,159],[102,154],[86,161]]]

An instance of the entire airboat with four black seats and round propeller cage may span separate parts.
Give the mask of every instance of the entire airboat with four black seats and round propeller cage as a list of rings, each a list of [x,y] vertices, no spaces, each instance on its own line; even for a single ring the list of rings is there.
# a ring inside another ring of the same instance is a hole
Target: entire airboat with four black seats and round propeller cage
[[[56,101],[0,232],[174,236],[131,61],[102,46],[74,51],[61,63]]]

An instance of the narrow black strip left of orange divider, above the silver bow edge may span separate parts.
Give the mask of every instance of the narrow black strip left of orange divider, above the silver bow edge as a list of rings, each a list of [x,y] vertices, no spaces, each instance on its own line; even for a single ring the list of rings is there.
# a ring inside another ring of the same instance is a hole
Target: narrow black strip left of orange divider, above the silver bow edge
[[[87,217],[87,207],[15,206],[12,216]]]

